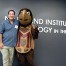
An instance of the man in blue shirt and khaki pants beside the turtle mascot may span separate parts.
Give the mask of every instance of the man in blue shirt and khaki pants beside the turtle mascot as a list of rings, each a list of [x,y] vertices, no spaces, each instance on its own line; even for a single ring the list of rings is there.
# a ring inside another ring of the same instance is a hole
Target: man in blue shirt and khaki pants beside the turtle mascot
[[[14,47],[17,43],[18,21],[15,11],[8,11],[8,19],[0,26],[0,49],[3,58],[3,66],[12,66]]]

